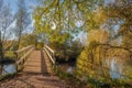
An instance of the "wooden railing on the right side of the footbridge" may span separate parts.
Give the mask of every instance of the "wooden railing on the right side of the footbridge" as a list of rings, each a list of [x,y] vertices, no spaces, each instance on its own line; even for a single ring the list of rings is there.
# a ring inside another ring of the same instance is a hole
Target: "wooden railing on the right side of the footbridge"
[[[50,57],[50,61],[52,62],[52,64],[55,65],[55,52],[47,45],[44,45],[44,51]]]

